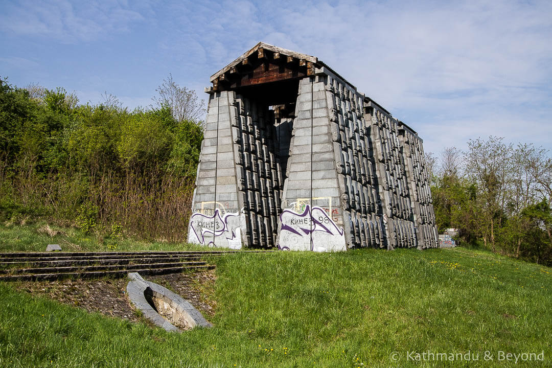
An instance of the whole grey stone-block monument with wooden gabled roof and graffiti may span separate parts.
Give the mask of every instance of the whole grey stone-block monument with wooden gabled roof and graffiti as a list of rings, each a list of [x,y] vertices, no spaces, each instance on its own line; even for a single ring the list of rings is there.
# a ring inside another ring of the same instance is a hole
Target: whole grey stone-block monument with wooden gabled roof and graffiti
[[[211,83],[189,242],[438,247],[422,139],[321,60],[259,42]]]

